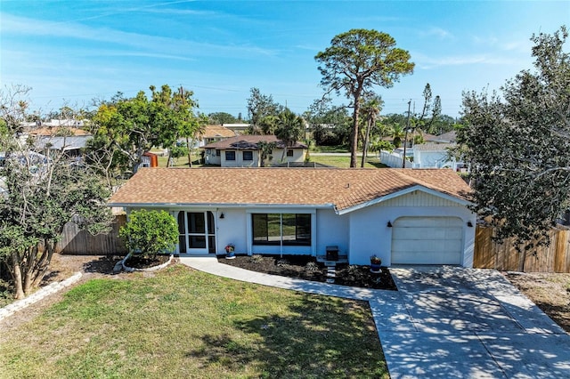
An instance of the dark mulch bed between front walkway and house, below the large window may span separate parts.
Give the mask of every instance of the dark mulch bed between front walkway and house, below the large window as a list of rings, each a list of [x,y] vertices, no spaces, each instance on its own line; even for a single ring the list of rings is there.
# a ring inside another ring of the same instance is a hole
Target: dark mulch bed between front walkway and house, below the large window
[[[327,268],[314,257],[307,255],[237,255],[235,259],[218,257],[218,261],[246,270],[326,282]],[[370,266],[337,264],[335,284],[362,288],[387,289],[397,291],[390,271],[383,267],[379,273],[372,273]]]

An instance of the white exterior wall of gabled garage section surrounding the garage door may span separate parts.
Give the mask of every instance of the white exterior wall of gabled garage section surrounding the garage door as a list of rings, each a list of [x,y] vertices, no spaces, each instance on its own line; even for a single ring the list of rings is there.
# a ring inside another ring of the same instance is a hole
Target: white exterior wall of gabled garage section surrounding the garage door
[[[476,217],[466,206],[438,198],[436,196],[413,191],[411,194],[370,206],[350,215],[349,262],[351,264],[370,264],[370,256],[377,254],[384,265],[391,265],[392,228],[400,217],[444,216],[459,217],[463,222],[462,266],[472,267],[475,244],[475,227],[468,227],[467,222],[476,224]]]

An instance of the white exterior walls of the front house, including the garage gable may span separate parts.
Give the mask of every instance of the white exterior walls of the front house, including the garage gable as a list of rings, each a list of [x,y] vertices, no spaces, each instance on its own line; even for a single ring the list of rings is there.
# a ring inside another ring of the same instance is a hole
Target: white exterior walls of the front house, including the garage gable
[[[212,212],[216,228],[216,254],[224,247],[235,246],[237,254],[306,254],[324,255],[326,246],[338,246],[350,264],[368,265],[377,254],[384,265],[391,265],[392,224],[400,217],[457,217],[463,222],[462,265],[472,267],[475,246],[476,216],[466,206],[448,198],[421,190],[396,197],[376,206],[367,206],[348,214],[336,214],[332,208],[299,207],[173,207],[165,209],[173,216],[178,212]],[[132,209],[129,209],[129,212]],[[222,218],[222,214],[224,217]],[[312,214],[311,246],[253,245],[251,214]],[[176,247],[175,253],[179,253]],[[205,250],[203,254],[208,254]]]

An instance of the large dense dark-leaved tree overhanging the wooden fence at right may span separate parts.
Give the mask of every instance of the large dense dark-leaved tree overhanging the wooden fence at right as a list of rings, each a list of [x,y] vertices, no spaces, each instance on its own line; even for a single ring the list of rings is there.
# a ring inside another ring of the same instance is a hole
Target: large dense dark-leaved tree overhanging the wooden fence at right
[[[473,209],[499,239],[548,244],[570,204],[570,54],[565,27],[533,35],[533,66],[498,93],[463,93],[458,132],[471,165]]]

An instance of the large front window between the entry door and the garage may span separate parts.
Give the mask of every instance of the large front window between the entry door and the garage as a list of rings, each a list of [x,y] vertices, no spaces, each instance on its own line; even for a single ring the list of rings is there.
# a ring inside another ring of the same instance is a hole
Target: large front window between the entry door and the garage
[[[311,246],[311,214],[252,214],[254,245]]]

